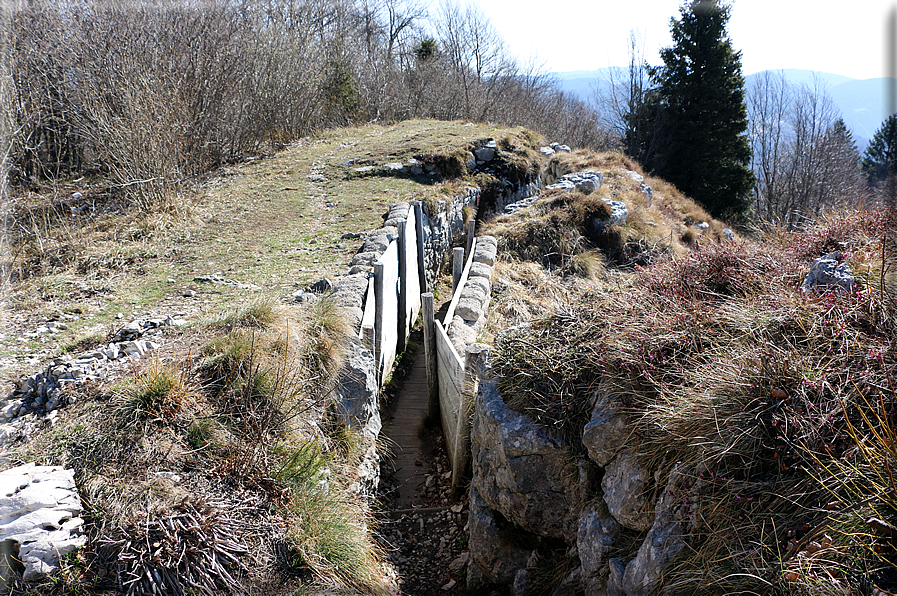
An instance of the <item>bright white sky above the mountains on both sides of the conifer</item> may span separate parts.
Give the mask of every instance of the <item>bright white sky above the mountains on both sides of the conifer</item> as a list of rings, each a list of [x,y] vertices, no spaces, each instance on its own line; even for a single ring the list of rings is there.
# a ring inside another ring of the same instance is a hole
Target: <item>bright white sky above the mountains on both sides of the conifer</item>
[[[671,45],[680,0],[471,0],[519,58],[548,70],[595,70],[628,61],[629,31],[645,38],[648,62]],[[729,36],[744,74],[802,68],[857,79],[885,76],[885,21],[895,0],[736,0]]]

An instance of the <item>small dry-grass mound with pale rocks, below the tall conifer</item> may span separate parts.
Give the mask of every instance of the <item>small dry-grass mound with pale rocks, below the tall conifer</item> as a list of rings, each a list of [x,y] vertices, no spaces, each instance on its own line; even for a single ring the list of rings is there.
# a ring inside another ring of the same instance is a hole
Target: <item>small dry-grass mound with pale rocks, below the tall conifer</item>
[[[622,267],[646,265],[664,253],[685,254],[694,246],[724,238],[725,225],[659,178],[645,178],[640,166],[620,153],[580,150],[552,156],[546,181],[594,170],[604,184],[588,195],[547,190],[530,207],[490,222],[489,233],[507,259],[532,261],[563,274],[595,277],[605,262]],[[650,187],[649,199],[644,188]],[[606,200],[629,211],[623,226],[597,229],[607,219]],[[706,223],[706,229],[697,224]]]

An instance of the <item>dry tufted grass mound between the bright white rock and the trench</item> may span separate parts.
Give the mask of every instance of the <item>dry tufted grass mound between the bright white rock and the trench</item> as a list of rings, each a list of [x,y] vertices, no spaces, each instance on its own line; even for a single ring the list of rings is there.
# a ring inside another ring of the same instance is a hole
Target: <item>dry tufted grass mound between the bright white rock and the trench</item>
[[[328,415],[348,337],[339,308],[257,300],[203,332],[197,353],[87,391],[13,453],[74,469],[85,504],[87,546],[31,589],[390,593],[354,488],[366,445]]]

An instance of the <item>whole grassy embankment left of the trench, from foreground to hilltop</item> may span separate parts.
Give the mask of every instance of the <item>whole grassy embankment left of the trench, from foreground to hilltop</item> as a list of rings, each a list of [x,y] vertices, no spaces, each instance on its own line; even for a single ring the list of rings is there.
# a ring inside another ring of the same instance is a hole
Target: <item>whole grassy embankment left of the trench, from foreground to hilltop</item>
[[[435,204],[488,182],[460,167],[487,138],[532,154],[522,129],[410,121],[322,133],[223,168],[150,211],[103,180],[13,196],[7,388],[133,318],[190,322],[14,446],[10,465],[73,468],[86,507],[88,546],[40,593],[392,589],[369,505],[352,488],[363,442],[327,415],[345,323],[327,300],[283,298],[344,273],[362,239],[342,235],[379,227],[389,204]],[[412,157],[435,173],[382,167]],[[375,169],[356,172],[364,166]],[[214,273],[240,285],[194,280]],[[68,329],[26,335],[47,319]]]

